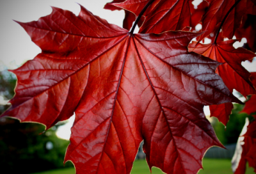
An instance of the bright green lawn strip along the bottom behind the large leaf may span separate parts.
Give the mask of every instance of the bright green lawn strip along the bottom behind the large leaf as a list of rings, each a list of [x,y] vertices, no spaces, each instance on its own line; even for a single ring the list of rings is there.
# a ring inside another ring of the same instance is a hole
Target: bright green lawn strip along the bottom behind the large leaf
[[[199,174],[232,174],[230,159],[204,159],[204,170],[200,170]],[[163,173],[158,168],[152,168],[152,174]],[[74,168],[62,170],[44,171],[33,174],[75,174]],[[145,160],[137,160],[134,162],[131,174],[150,174]],[[253,168],[247,168],[246,174],[253,174]]]

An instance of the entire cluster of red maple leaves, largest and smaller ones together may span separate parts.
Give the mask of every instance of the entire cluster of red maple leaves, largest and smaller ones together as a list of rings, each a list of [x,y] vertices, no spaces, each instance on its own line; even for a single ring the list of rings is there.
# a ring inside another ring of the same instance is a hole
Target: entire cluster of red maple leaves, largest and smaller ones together
[[[2,116],[49,129],[75,113],[65,161],[76,173],[130,173],[141,141],[150,169],[197,173],[205,151],[223,146],[203,107],[226,125],[232,102],[241,104],[235,89],[253,95],[243,111],[255,109],[254,76],[241,65],[255,57],[255,0],[207,0],[196,9],[191,0],[114,0],[105,8],[125,10],[124,29],[83,6],[78,16],[52,8],[18,22],[42,53],[11,70],[17,87]],[[233,36],[247,38],[250,50],[235,49]],[[246,136],[255,138],[255,122]],[[255,168],[255,143],[245,146]]]

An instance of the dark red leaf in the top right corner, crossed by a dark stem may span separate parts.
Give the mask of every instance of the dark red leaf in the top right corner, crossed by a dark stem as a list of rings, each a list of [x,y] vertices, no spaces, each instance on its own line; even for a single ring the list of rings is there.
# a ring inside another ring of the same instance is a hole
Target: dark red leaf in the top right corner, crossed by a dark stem
[[[200,40],[204,39],[210,33],[214,33],[219,28],[221,21],[224,19],[228,10],[236,3],[237,0],[208,0],[210,5],[202,18],[202,31],[205,33],[200,36]],[[242,0],[236,7],[229,13],[225,20],[222,31],[223,36],[232,38],[237,28],[241,24],[244,14],[256,15],[256,6],[251,0]],[[200,41],[199,40],[199,41]]]

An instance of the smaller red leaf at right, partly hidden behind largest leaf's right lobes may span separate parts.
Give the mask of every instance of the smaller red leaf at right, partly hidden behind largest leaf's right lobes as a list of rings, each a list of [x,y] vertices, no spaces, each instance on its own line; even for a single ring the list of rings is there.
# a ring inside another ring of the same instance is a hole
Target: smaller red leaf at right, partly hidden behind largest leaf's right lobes
[[[235,89],[246,97],[247,95],[255,94],[256,91],[249,79],[250,72],[241,65],[241,62],[252,59],[255,54],[243,48],[235,49],[233,47],[234,42],[236,40],[227,40],[216,44],[197,44],[193,42],[189,44],[189,51],[202,54],[223,63],[223,65],[220,65],[216,69],[216,73],[220,75],[230,91]],[[224,125],[227,124],[232,110],[231,104],[212,106],[210,109],[211,113],[214,113],[212,116],[216,116]],[[221,110],[223,112],[220,112]]]

